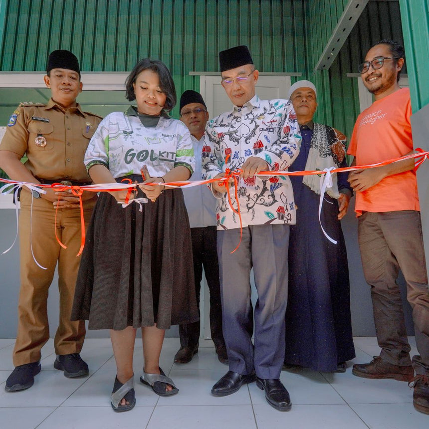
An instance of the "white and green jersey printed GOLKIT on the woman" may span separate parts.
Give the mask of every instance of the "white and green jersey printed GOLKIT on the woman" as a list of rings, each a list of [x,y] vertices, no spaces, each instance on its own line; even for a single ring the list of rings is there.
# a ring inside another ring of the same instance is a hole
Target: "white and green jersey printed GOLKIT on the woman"
[[[113,112],[100,123],[89,142],[84,163],[106,166],[113,177],[140,174],[146,165],[151,177],[161,177],[174,167],[194,172],[191,133],[177,119],[161,117],[156,127],[145,127],[135,110]]]

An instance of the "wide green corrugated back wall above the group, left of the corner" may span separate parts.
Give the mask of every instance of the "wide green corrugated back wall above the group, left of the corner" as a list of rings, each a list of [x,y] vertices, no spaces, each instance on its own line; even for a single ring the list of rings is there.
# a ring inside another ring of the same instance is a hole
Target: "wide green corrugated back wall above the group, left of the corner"
[[[180,95],[199,89],[199,78],[190,71],[217,71],[218,51],[236,44],[249,46],[260,71],[306,69],[301,0],[21,0],[4,5],[1,70],[43,70],[47,53],[58,48],[73,51],[85,71],[128,71],[150,56],[167,64]]]

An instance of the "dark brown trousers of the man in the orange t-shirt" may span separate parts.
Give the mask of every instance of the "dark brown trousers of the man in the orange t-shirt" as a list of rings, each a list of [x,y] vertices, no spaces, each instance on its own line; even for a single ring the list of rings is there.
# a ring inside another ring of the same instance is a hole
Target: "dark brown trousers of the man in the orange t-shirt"
[[[358,240],[365,279],[371,286],[380,357],[393,365],[411,364],[396,283],[401,268],[419,352],[413,357],[413,366],[417,374],[429,375],[429,289],[420,212],[364,212],[359,217]]]

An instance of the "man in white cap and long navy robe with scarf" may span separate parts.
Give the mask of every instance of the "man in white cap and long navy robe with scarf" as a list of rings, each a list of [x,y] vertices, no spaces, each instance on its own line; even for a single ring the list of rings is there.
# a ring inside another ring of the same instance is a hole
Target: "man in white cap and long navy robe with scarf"
[[[302,135],[301,149],[289,171],[346,167],[346,137],[313,122],[316,88],[308,80],[289,90]],[[319,225],[319,176],[291,176],[296,225],[290,227],[289,292],[286,310],[285,367],[344,372],[355,357],[350,316],[349,271],[340,219],[352,195],[348,173],[333,175],[324,195]],[[338,202],[338,204],[337,204]]]

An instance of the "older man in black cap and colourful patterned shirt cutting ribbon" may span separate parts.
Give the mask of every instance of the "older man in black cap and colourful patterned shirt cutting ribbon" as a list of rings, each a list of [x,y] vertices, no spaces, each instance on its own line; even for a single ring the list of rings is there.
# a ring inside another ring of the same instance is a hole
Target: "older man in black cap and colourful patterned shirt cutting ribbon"
[[[231,183],[230,200],[225,186],[212,184],[229,361],[229,371],[213,386],[212,394],[230,395],[257,379],[268,403],[287,411],[291,402],[279,377],[284,356],[287,246],[295,204],[289,178],[255,174],[287,169],[298,154],[301,136],[289,100],[260,100],[255,94],[258,71],[247,46],[221,51],[219,62],[221,83],[233,107],[207,125],[203,173],[206,179],[220,178],[230,169],[240,171],[241,178],[235,191]],[[258,292],[254,314],[252,267]]]

